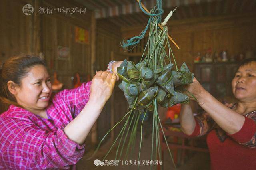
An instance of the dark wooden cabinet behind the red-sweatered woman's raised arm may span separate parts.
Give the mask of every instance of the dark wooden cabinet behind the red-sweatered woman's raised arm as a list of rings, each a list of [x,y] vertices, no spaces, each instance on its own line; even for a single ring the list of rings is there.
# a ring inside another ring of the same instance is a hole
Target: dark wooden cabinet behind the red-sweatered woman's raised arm
[[[196,79],[216,99],[227,102],[234,101],[231,81],[236,73],[239,63],[195,63],[194,73]],[[200,110],[196,107],[196,111]]]

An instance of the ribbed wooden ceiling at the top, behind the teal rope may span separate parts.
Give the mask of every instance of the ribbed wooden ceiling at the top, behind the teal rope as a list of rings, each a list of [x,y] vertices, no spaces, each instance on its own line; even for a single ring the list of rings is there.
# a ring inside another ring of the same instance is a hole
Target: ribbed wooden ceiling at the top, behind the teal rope
[[[136,0],[76,0],[89,10],[95,11],[98,20],[108,20],[120,27],[144,25],[148,16]],[[256,11],[256,0],[162,0],[163,18],[178,7],[172,20],[183,20],[204,16],[225,16]],[[149,10],[156,0],[142,0]],[[163,20],[163,19],[162,19]]]

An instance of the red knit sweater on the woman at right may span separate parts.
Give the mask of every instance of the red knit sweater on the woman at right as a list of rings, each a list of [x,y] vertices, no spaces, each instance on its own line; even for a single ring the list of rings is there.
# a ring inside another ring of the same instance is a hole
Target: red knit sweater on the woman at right
[[[200,124],[196,120],[196,127],[190,136],[200,135]],[[215,130],[207,136],[212,170],[256,170],[256,124],[245,117],[242,128],[235,134],[229,135],[224,142],[220,142]],[[252,147],[252,148],[251,148]]]

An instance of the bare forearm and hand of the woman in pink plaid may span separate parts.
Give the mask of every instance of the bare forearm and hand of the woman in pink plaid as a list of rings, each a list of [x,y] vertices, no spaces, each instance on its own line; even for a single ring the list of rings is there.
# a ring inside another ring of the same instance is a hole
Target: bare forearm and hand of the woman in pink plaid
[[[92,79],[89,101],[80,114],[64,128],[69,139],[78,144],[84,143],[106,101],[110,98],[115,82],[116,75],[114,73],[108,73],[108,71],[96,73]]]

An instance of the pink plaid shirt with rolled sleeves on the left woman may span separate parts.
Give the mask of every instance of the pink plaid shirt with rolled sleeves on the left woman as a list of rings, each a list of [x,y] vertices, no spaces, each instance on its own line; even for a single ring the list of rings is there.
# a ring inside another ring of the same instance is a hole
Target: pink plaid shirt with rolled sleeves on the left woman
[[[0,115],[0,169],[75,169],[84,144],[68,139],[63,129],[86,105],[90,85],[57,93],[48,119],[10,105]]]

